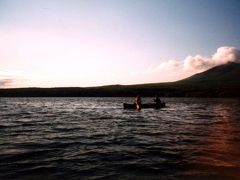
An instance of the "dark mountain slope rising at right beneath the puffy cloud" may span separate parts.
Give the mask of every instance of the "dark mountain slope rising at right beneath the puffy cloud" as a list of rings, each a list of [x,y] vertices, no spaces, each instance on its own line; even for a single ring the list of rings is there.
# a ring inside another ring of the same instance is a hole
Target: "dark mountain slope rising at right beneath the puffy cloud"
[[[229,62],[174,83],[190,97],[240,97],[240,64]]]

